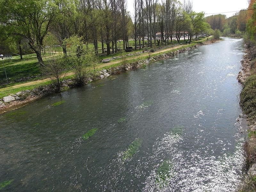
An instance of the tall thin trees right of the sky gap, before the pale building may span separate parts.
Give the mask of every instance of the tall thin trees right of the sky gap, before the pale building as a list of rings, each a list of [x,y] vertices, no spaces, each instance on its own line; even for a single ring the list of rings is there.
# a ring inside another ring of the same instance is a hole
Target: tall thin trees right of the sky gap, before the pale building
[[[204,13],[193,12],[192,2],[184,0],[183,4],[177,0],[134,0],[133,36],[135,48],[139,44],[144,46],[144,37],[148,37],[148,46],[156,47],[160,44],[172,42],[173,36],[180,38],[188,34],[190,41],[192,36],[204,32],[209,25],[204,20]],[[160,33],[161,38],[156,38]]]

